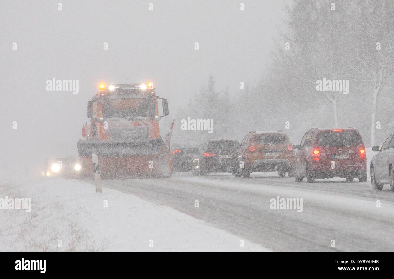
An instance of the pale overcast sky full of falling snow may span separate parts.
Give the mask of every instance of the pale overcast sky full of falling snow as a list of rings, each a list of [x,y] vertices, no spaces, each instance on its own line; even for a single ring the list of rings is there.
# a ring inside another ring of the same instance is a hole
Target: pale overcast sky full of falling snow
[[[0,167],[77,155],[100,81],[153,81],[171,113],[210,74],[234,94],[241,81],[261,78],[283,17],[280,0],[0,0]],[[79,80],[80,93],[46,91],[52,78]]]

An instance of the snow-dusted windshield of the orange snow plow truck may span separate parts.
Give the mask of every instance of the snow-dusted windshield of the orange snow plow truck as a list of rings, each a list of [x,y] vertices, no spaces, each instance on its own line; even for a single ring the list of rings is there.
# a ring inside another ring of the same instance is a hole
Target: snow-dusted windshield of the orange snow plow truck
[[[132,119],[136,117],[154,117],[154,97],[134,99],[106,100],[102,103],[103,117],[121,117]]]

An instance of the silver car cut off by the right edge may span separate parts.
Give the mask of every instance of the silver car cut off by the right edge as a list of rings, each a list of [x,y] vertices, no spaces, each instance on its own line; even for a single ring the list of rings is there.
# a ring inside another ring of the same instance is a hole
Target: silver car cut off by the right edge
[[[394,192],[394,134],[386,139],[381,148],[376,145],[372,150],[379,151],[371,160],[372,189],[382,190],[384,184],[390,184]]]

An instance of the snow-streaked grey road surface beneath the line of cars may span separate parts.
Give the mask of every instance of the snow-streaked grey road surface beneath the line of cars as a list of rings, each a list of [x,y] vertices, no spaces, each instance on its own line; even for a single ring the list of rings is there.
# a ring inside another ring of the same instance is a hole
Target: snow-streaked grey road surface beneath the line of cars
[[[175,173],[165,180],[105,180],[104,184],[170,206],[274,251],[394,250],[394,193],[388,186],[376,192],[370,181],[357,179],[308,184],[278,178],[275,173],[257,175],[242,179]],[[302,198],[302,212],[271,209],[271,199],[277,196]]]

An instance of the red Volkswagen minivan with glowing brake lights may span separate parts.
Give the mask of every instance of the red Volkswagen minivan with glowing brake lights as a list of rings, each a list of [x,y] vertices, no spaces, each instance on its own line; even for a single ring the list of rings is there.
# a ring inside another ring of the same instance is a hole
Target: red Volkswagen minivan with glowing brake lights
[[[315,179],[340,177],[366,182],[366,156],[364,142],[353,127],[318,129],[305,133],[296,153],[295,180],[307,182]]]

